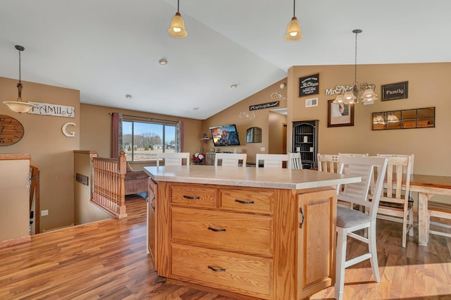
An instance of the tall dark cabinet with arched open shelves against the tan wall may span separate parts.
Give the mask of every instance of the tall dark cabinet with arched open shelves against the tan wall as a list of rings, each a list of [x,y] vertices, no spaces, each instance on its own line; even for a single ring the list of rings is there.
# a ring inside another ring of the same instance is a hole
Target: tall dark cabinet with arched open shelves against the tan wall
[[[301,154],[302,168],[318,167],[318,120],[293,122],[292,151]]]

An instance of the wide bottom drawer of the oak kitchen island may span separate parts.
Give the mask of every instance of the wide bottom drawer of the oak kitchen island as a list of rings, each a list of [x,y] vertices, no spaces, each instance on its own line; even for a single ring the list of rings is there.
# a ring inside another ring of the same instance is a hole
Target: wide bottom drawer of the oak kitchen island
[[[268,299],[271,259],[171,244],[172,274],[202,285]]]

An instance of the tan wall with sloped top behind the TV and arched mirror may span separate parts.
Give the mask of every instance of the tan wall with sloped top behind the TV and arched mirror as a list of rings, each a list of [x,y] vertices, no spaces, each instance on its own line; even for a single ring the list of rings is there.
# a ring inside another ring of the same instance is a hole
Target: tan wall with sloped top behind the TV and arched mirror
[[[233,151],[235,148],[238,153],[246,153],[247,161],[249,163],[255,162],[255,154],[257,153],[269,153],[269,112],[273,108],[263,108],[256,111],[256,118],[249,120],[248,118],[240,118],[240,113],[252,113],[249,111],[249,106],[254,104],[265,104],[268,102],[273,102],[275,100],[271,99],[271,92],[280,90],[280,83],[287,82],[287,80],[280,80],[266,89],[262,89],[260,92],[253,94],[252,96],[243,99],[242,101],[226,108],[220,113],[211,116],[210,118],[202,121],[202,133],[206,133],[208,137],[211,137],[209,127],[214,127],[218,125],[237,125],[238,136],[240,137],[240,146],[221,146],[217,147],[216,151]],[[239,88],[239,87],[238,87]],[[287,101],[280,101],[280,106],[275,108],[285,108]],[[261,143],[247,144],[246,143],[246,130],[249,127],[257,126],[261,128]],[[200,136],[199,136],[200,137]],[[208,151],[213,147],[213,144],[209,142],[208,146],[204,146],[205,151]],[[261,151],[261,147],[265,150]]]

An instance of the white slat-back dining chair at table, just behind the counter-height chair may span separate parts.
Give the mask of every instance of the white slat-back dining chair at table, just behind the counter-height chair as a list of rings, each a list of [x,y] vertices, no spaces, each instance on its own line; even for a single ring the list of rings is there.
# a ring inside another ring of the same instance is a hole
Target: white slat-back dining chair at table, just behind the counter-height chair
[[[380,219],[402,223],[402,247],[405,248],[407,234],[410,237],[414,236],[414,205],[409,201],[414,157],[409,155],[378,155],[378,157],[387,158],[388,164],[377,216]]]

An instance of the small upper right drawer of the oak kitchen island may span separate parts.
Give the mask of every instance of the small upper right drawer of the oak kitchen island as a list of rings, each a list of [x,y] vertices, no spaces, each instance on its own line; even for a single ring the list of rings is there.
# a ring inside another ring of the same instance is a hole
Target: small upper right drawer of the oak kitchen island
[[[233,211],[273,213],[272,189],[220,189],[220,207]]]

